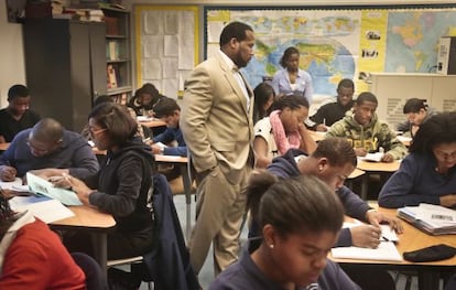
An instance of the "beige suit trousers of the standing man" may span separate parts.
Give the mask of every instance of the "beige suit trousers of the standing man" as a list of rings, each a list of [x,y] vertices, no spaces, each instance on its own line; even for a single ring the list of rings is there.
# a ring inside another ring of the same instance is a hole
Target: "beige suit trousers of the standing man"
[[[231,184],[216,167],[198,185],[196,223],[188,243],[191,261],[196,273],[206,260],[210,243],[214,248],[216,276],[238,259],[251,168],[246,165],[242,171],[239,183]]]

